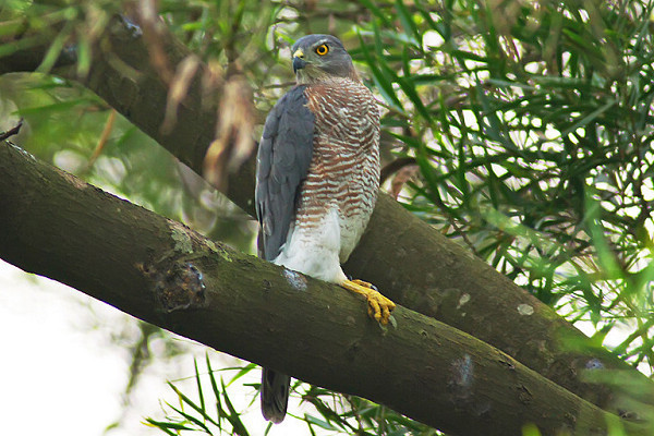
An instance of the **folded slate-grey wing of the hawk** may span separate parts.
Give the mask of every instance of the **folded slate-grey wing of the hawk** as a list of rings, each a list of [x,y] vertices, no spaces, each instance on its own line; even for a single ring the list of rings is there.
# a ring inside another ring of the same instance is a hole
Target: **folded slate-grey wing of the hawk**
[[[306,107],[305,86],[289,90],[266,118],[256,171],[259,257],[272,261],[295,218],[302,182],[313,154],[315,117]]]

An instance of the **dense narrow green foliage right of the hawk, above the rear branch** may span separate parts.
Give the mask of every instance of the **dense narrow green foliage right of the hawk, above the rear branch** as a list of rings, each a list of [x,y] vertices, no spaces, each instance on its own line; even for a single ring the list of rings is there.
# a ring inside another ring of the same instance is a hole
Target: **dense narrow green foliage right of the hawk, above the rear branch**
[[[407,207],[651,367],[651,2],[362,2]]]

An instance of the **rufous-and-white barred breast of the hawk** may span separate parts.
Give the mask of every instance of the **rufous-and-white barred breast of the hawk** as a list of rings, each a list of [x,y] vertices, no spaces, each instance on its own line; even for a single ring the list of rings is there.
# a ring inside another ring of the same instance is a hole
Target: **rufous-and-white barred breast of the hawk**
[[[363,233],[379,187],[379,114],[370,90],[351,80],[306,87],[315,116],[313,156],[302,185],[295,226],[319,229],[336,210],[339,257],[344,262]]]

